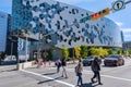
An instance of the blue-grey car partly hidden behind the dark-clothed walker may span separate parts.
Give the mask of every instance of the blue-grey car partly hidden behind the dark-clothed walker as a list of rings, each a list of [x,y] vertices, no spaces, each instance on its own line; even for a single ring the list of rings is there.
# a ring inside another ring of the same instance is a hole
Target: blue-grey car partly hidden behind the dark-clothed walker
[[[94,55],[90,55],[85,60],[83,60],[83,66],[91,65],[94,58],[95,58]],[[98,58],[99,63],[102,63],[102,58],[100,57],[97,57],[97,58]]]

